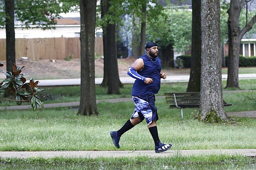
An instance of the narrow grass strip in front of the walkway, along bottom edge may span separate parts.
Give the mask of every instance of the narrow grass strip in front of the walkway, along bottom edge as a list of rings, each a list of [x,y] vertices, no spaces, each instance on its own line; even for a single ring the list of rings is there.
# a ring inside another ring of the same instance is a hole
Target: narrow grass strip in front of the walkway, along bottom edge
[[[214,170],[254,170],[255,157],[209,155],[173,156],[165,158],[0,158],[0,168],[46,169],[46,170],[166,170],[166,169],[214,169]]]

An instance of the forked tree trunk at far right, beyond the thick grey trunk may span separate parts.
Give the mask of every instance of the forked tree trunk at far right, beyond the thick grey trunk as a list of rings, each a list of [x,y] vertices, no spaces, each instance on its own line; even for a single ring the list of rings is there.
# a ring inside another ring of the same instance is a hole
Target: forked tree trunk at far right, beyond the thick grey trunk
[[[228,63],[227,63],[227,87],[239,88],[238,68],[239,50],[241,39],[256,22],[256,14],[249,18],[247,13],[251,0],[230,0],[228,13]],[[245,7],[245,8],[244,8]],[[245,25],[240,27],[242,10],[246,10]]]

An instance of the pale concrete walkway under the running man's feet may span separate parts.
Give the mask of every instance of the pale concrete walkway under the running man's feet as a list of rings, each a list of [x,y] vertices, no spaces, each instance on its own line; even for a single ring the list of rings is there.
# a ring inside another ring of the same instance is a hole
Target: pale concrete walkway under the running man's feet
[[[40,152],[0,152],[2,158],[117,158],[117,157],[173,157],[200,155],[241,155],[256,156],[256,149],[218,149],[218,150],[168,150],[163,153],[154,151],[40,151]]]

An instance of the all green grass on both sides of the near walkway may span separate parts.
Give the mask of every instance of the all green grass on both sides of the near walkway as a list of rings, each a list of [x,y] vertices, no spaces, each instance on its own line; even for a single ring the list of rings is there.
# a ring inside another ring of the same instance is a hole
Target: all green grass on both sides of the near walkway
[[[240,87],[249,92],[225,93],[223,98],[232,106],[226,112],[256,110],[255,80],[240,80]],[[120,95],[105,95],[107,89],[96,87],[96,98],[130,97],[132,85],[120,89]],[[186,89],[186,83],[164,83],[164,92]],[[79,86],[45,88],[45,103],[79,101]],[[5,105],[2,103],[1,105]],[[157,128],[163,143],[171,143],[172,150],[252,149],[256,141],[256,119],[233,117],[232,123],[205,124],[193,119],[197,109],[169,108],[164,98],[156,99],[159,120]],[[118,130],[133,112],[132,102],[97,104],[98,116],[76,116],[77,107],[5,110],[0,112],[0,151],[113,151],[117,150],[109,131]],[[145,122],[126,132],[120,139],[120,149],[127,151],[153,150],[154,144]],[[13,169],[255,169],[255,158],[240,156],[199,156],[152,159],[1,159],[0,168]],[[56,165],[58,165],[56,167]],[[112,165],[112,166],[110,166]],[[30,167],[31,166],[31,167]],[[44,167],[45,166],[45,167]],[[123,166],[123,167],[122,167]],[[30,168],[29,168],[30,167]],[[122,168],[120,168],[122,167]]]

